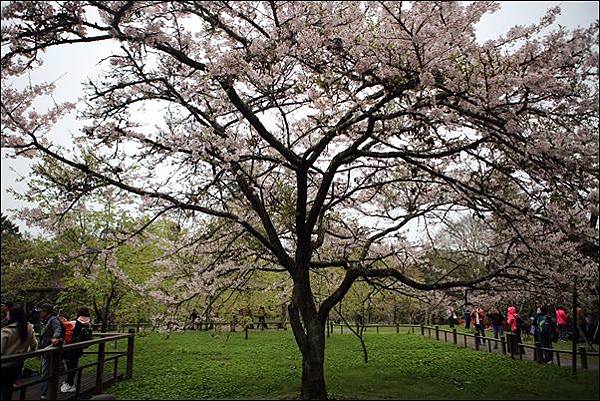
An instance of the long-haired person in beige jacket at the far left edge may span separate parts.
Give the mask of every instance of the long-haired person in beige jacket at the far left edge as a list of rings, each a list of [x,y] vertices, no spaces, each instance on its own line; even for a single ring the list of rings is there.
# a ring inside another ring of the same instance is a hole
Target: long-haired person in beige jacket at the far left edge
[[[2,356],[34,351],[37,339],[33,326],[27,321],[23,309],[13,306],[7,311],[6,326],[2,328]],[[13,385],[23,370],[23,361],[2,362],[0,399],[12,400]]]

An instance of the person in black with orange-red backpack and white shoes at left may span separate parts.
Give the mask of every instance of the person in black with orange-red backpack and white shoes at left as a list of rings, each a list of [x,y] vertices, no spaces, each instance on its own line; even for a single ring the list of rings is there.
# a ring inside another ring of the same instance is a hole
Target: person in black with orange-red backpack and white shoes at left
[[[77,310],[77,318],[65,325],[65,344],[75,344],[93,339],[90,310],[87,307],[81,307]],[[70,335],[69,335],[70,331]],[[77,391],[75,386],[75,374],[79,366],[79,358],[83,354],[83,348],[76,350],[67,350],[63,353],[63,360],[67,367],[67,379],[60,387],[62,393],[74,393]]]

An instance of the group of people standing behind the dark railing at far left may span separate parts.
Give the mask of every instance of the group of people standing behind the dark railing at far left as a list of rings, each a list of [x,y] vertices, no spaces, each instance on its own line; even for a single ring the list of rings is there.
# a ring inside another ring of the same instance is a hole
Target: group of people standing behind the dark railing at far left
[[[2,356],[20,354],[36,349],[45,349],[68,345],[92,339],[90,311],[87,307],[77,310],[73,321],[55,312],[51,304],[44,304],[39,310],[41,322],[40,332],[36,334],[34,326],[27,320],[27,314],[17,305],[7,303],[2,305]],[[75,375],[83,349],[66,349],[61,353],[61,359],[67,370],[66,380],[60,391],[73,393],[76,391]],[[2,383],[0,396],[2,400],[11,400],[14,383],[21,377],[23,361],[2,362]],[[41,356],[42,379],[49,377],[49,360]],[[41,399],[46,399],[48,380],[41,383]]]

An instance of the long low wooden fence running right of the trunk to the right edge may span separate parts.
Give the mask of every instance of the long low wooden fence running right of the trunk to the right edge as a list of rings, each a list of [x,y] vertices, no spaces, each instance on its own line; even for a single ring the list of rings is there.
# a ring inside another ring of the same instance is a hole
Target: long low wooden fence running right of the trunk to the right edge
[[[347,327],[344,324],[329,322],[329,325],[327,327],[328,335],[329,335],[329,333],[333,333],[333,331],[334,331],[333,329],[335,326],[340,328],[341,334],[344,333],[344,328]],[[416,331],[418,334],[421,334],[422,336],[428,336],[430,338],[433,338],[435,336],[435,339],[438,341],[443,336],[444,342],[451,341],[452,343],[454,343],[456,345],[459,345],[459,342],[460,342],[459,338],[461,338],[462,345],[465,348],[467,348],[469,346],[467,338],[473,338],[476,350],[481,350],[483,348],[483,350],[487,349],[488,352],[493,352],[492,351],[492,343],[494,343],[494,349],[500,349],[500,351],[503,355],[510,355],[511,358],[513,358],[513,359],[515,359],[515,356],[518,356],[519,359],[523,359],[523,354],[520,352],[520,348],[529,349],[532,352],[533,360],[536,362],[539,362],[539,363],[544,362],[543,352],[546,351],[546,352],[551,353],[552,363],[554,363],[554,359],[556,359],[556,364],[558,366],[562,366],[561,359],[560,359],[561,354],[569,355],[571,358],[571,361],[579,360],[580,365],[583,369],[589,369],[589,363],[588,363],[589,357],[593,357],[593,358],[599,357],[598,352],[588,352],[588,351],[586,351],[585,347],[578,347],[578,350],[574,353],[572,350],[568,351],[568,350],[561,350],[561,349],[556,349],[556,348],[544,348],[539,343],[537,343],[535,345],[518,343],[516,341],[517,338],[514,333],[505,333],[504,336],[500,336],[499,338],[494,338],[494,337],[487,337],[487,336],[479,336],[477,334],[472,334],[472,333],[458,332],[456,329],[447,330],[447,329],[440,328],[439,326],[426,326],[426,325],[422,325],[422,324],[378,324],[378,323],[376,323],[376,324],[365,324],[364,327],[367,329],[375,328],[377,333],[379,333],[380,328],[395,328],[396,333],[399,333],[401,328],[407,328],[408,329],[407,332],[409,332],[409,333],[414,334]],[[450,340],[449,340],[449,338],[450,338]],[[482,345],[481,343],[483,341],[481,341],[481,340],[487,340],[486,341],[487,346]],[[497,346],[499,346],[499,348]],[[575,372],[575,369],[573,370],[573,372]]]

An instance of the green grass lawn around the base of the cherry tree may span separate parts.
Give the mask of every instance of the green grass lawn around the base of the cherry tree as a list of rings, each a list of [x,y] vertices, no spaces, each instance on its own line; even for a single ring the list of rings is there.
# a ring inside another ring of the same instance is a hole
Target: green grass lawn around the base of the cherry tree
[[[366,334],[327,340],[326,381],[338,399],[598,399],[597,372],[511,360],[420,335]],[[114,385],[118,399],[293,399],[301,360],[286,332],[158,334],[136,338],[134,378]]]

